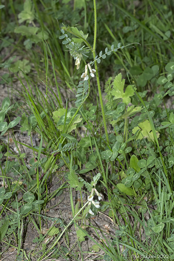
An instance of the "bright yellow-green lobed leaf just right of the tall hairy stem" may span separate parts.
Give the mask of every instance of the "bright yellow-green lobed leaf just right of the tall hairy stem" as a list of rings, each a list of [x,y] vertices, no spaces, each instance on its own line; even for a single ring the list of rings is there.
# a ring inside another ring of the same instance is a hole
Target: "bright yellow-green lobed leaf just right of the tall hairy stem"
[[[130,97],[134,95],[134,90],[131,85],[128,85],[124,92],[125,79],[122,80],[122,75],[119,73],[113,80],[113,88],[111,94],[114,96],[113,100],[121,98],[125,105],[131,102]]]

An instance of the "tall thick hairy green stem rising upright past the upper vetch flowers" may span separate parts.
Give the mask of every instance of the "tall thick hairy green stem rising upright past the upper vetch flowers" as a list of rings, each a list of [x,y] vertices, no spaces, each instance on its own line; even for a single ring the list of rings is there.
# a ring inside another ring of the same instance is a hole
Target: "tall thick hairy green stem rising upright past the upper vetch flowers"
[[[94,44],[93,44],[93,57],[95,60],[95,45],[96,45],[96,38],[97,38],[97,9],[96,9],[96,1],[94,1]],[[100,105],[101,105],[101,112],[103,116],[103,123],[105,128],[105,134],[106,134],[106,141],[109,144],[109,137],[107,133],[107,126],[106,126],[106,119],[105,119],[105,112],[104,112],[104,106],[103,106],[103,100],[101,95],[101,87],[100,87],[100,80],[99,80],[99,74],[98,74],[98,68],[97,68],[97,61],[95,61],[95,70],[96,70],[96,77],[97,77],[97,87],[99,92],[99,98],[100,98]]]

